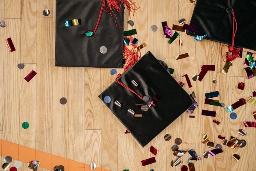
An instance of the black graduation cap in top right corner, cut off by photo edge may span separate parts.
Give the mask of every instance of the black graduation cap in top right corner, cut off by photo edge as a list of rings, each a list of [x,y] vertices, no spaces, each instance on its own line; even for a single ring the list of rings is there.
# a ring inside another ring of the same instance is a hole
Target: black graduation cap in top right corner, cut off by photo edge
[[[206,35],[206,39],[232,44],[233,15],[237,20],[235,47],[256,50],[255,0],[197,0],[190,25],[197,26],[191,36]]]

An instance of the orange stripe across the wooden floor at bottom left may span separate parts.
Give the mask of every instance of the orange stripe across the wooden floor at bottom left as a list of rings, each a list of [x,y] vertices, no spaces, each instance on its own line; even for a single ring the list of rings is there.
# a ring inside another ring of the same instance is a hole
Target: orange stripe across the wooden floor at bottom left
[[[11,143],[6,140],[0,139],[0,146],[2,146],[2,150],[0,150],[1,156],[11,156],[14,160],[24,163],[29,163],[31,160],[37,160],[40,162],[40,167],[48,170],[53,170],[56,165],[63,165],[65,167],[65,171],[91,171],[89,164],[55,156],[53,154]],[[110,170],[96,167],[94,171]]]

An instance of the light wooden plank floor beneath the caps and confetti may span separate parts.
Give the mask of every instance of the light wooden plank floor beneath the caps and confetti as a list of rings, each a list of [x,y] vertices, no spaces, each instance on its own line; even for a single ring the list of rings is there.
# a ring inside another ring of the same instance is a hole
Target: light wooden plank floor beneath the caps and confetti
[[[204,93],[218,90],[220,102],[230,106],[239,98],[247,99],[256,90],[256,79],[247,79],[243,69],[243,58],[237,58],[227,75],[221,73],[224,62],[220,57],[220,43],[203,40],[194,42],[192,36],[181,32],[179,47],[177,40],[169,44],[163,35],[162,21],[171,27],[178,25],[178,19],[185,18],[189,23],[195,3],[188,0],[136,0],[141,6],[131,18],[125,15],[125,30],[136,28],[135,36],[139,44],[146,43],[141,50],[145,54],[150,50],[154,56],[164,60],[174,68],[177,81],[185,83],[184,89],[195,91],[199,107],[195,118],[188,113],[182,114],[163,132],[142,148],[130,134],[124,134],[125,127],[104,106],[97,97],[115,79],[110,75],[110,68],[66,68],[54,67],[55,54],[55,0],[0,0],[0,20],[6,20],[7,26],[0,28],[0,138],[51,153],[71,160],[90,164],[95,161],[98,167],[111,171],[179,171],[180,166],[171,167],[175,158],[171,150],[175,138],[181,138],[181,150],[194,149],[201,161],[195,163],[196,171],[255,171],[256,170],[256,129],[245,128],[242,121],[255,121],[255,106],[247,103],[235,110],[238,117],[231,120],[226,109],[205,105]],[[45,17],[44,9],[50,10]],[[131,27],[127,21],[134,21]],[[157,32],[150,30],[157,25]],[[5,39],[13,40],[16,51],[10,53]],[[175,60],[178,54],[189,53],[189,58]],[[18,63],[25,63],[19,70]],[[185,77],[199,74],[202,64],[215,65],[215,71],[209,71],[202,82],[192,81],[188,88]],[[38,74],[26,82],[24,77],[32,70]],[[117,69],[122,72],[122,69]],[[212,79],[217,83],[213,84]],[[237,88],[239,82],[245,83],[245,90]],[[67,104],[60,104],[60,98],[67,98]],[[182,98],[182,97],[180,97]],[[201,111],[216,111],[213,117],[202,116]],[[22,122],[29,122],[29,129],[22,129]],[[238,129],[247,134],[241,136]],[[215,145],[221,143],[218,135],[245,139],[247,145],[236,150],[223,146],[224,153],[208,159],[203,152],[210,150],[202,144],[203,133],[207,132],[209,140]],[[169,142],[164,135],[169,133]],[[141,160],[153,157],[149,147],[159,150],[156,163],[142,167]],[[233,154],[241,159],[235,161]],[[190,157],[186,153],[181,160],[184,165]],[[3,164],[3,157],[1,163]],[[25,164],[19,170],[28,170]],[[40,168],[39,171],[46,169]]]

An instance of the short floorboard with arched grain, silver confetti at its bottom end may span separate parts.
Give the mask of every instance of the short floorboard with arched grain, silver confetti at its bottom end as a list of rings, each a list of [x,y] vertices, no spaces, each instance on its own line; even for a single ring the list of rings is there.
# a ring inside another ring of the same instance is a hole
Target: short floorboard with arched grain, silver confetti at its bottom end
[[[100,130],[85,130],[85,164],[95,162],[101,167],[101,134]]]

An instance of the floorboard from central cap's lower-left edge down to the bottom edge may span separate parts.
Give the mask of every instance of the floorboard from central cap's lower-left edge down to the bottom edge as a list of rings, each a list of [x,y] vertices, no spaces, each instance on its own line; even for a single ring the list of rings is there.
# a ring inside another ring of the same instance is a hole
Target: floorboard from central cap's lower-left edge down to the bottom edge
[[[102,168],[117,171],[117,118],[106,106],[101,107]]]

